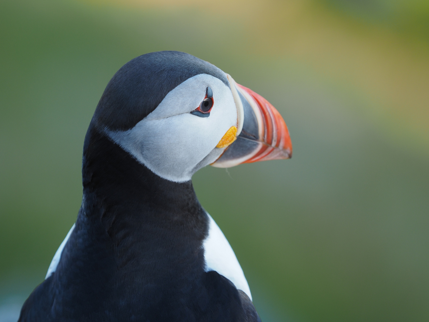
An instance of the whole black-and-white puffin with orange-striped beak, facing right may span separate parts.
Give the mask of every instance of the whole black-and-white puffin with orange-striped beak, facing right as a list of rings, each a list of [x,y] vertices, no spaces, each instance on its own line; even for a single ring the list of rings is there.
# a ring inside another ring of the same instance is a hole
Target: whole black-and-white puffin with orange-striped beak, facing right
[[[129,61],[85,136],[76,222],[18,322],[261,321],[191,178],[291,156],[279,112],[218,67],[175,51]]]

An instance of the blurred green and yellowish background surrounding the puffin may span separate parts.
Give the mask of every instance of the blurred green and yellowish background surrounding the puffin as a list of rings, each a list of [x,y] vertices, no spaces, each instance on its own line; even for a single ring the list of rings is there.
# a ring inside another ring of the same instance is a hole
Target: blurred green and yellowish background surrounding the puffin
[[[263,321],[429,321],[427,0],[1,0],[0,321],[76,220],[107,82],[158,50],[215,64],[289,127],[291,160],[193,177]]]

